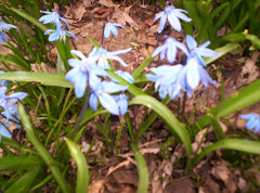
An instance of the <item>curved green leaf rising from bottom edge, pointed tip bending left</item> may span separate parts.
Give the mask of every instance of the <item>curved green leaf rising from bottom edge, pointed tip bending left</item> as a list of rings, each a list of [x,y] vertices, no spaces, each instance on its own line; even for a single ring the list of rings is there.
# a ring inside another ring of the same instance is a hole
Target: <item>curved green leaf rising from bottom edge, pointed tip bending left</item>
[[[77,186],[76,193],[86,192],[88,193],[89,190],[89,169],[88,164],[84,158],[84,155],[77,146],[76,143],[70,141],[69,139],[65,138],[65,142],[67,143],[68,150],[72,154],[73,159],[77,164]]]

